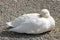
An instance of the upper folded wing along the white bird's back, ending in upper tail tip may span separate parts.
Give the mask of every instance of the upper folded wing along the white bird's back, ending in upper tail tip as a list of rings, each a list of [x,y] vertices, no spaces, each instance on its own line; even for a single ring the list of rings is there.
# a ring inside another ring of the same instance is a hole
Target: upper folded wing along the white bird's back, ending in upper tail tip
[[[30,14],[24,14],[22,16],[19,16],[18,18],[14,19],[11,22],[7,22],[6,24],[9,27],[17,27],[18,25],[20,25],[21,23],[23,23],[25,20],[30,19],[30,18],[37,18],[38,17],[38,13],[30,13]]]

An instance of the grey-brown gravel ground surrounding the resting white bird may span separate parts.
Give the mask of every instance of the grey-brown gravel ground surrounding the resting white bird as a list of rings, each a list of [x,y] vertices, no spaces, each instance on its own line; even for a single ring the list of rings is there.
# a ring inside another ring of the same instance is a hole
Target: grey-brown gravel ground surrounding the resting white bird
[[[5,24],[24,13],[40,12],[47,8],[56,21],[51,32],[28,35],[4,31]],[[0,40],[60,40],[60,0],[0,0]]]

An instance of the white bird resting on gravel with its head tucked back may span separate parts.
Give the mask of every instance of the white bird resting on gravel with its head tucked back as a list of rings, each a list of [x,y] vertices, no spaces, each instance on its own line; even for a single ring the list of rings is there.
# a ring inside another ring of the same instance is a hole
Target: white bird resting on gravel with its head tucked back
[[[24,14],[14,21],[7,22],[7,25],[14,27],[9,31],[39,34],[50,31],[51,28],[55,27],[55,21],[47,9],[42,9],[40,14]]]

